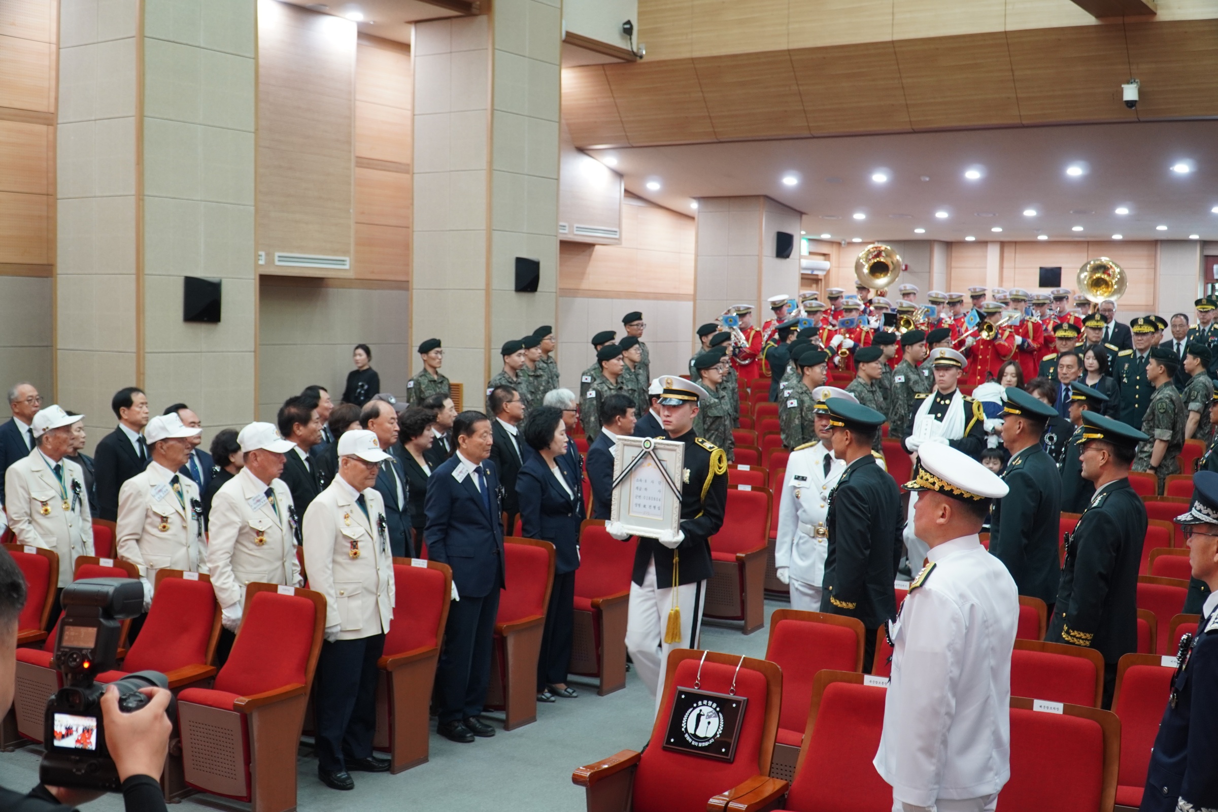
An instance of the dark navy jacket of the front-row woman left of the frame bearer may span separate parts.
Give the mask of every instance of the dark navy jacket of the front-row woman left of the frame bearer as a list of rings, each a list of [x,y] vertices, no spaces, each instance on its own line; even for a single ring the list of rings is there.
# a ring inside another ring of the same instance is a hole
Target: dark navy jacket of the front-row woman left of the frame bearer
[[[554,545],[554,572],[561,575],[580,569],[583,505],[568,465],[560,461],[555,465],[571,495],[563,491],[541,454],[525,460],[516,477],[516,493],[520,495],[520,532],[526,538],[540,538]]]

